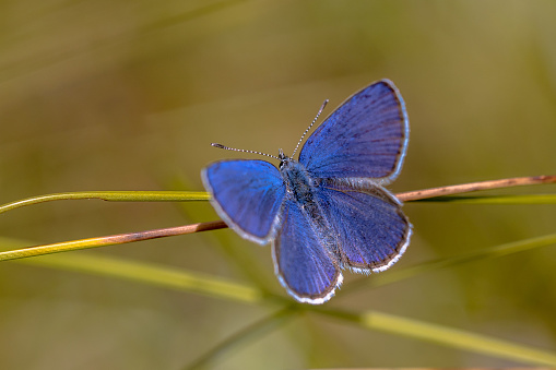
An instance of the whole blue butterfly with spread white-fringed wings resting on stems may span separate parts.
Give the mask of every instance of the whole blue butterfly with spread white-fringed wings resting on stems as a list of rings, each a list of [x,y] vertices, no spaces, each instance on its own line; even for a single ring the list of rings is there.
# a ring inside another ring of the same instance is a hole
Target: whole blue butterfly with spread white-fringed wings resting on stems
[[[400,174],[409,134],[402,96],[381,80],[334,110],[298,160],[295,151],[288,157],[282,150],[268,155],[280,168],[221,160],[204,168],[202,179],[230,228],[260,244],[272,242],[274,270],[287,293],[320,305],[342,284],[342,268],[385,271],[410,243],[412,225],[382,187]]]

